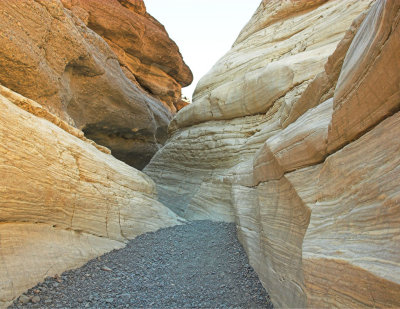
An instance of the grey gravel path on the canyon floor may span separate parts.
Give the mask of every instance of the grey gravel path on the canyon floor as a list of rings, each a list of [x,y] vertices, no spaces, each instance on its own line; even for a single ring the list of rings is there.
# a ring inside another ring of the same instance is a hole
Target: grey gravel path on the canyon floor
[[[21,301],[26,301],[23,304]],[[147,233],[47,278],[11,308],[272,308],[234,224],[194,221]]]

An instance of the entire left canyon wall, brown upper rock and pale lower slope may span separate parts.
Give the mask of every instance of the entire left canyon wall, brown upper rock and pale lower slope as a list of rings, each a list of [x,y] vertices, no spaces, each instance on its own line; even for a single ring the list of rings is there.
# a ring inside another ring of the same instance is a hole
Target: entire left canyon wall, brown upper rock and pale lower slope
[[[0,16],[4,307],[46,276],[181,222],[115,157],[150,160],[192,74],[141,0],[0,1]]]

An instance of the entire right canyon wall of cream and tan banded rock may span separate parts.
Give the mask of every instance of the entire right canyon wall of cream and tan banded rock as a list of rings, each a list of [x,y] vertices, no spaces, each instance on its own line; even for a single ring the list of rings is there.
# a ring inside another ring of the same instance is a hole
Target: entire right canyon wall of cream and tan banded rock
[[[263,1],[145,172],[277,307],[400,306],[400,5]]]

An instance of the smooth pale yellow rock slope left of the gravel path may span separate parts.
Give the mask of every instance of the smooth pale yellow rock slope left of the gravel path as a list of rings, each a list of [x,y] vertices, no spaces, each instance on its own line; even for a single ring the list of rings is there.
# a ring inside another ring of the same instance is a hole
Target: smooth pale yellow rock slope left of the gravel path
[[[0,86],[0,307],[46,276],[178,224],[153,181]]]

